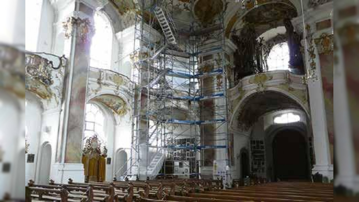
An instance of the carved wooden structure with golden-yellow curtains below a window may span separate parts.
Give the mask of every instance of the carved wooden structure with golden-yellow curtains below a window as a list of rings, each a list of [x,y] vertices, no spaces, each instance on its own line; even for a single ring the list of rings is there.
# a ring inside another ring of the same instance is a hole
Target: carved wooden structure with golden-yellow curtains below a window
[[[101,142],[97,135],[86,140],[82,153],[85,182],[103,182],[106,178],[107,149],[101,150]]]

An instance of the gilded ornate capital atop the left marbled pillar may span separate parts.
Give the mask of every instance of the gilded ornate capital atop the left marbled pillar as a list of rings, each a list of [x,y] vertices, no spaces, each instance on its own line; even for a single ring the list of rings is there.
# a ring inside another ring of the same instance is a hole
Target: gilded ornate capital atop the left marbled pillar
[[[89,18],[81,19],[75,17],[67,18],[66,22],[62,22],[62,26],[65,30],[65,38],[69,39],[73,37],[73,28],[77,27],[78,32],[77,36],[79,37],[81,43],[89,43],[93,34],[95,33],[94,26],[92,25]]]

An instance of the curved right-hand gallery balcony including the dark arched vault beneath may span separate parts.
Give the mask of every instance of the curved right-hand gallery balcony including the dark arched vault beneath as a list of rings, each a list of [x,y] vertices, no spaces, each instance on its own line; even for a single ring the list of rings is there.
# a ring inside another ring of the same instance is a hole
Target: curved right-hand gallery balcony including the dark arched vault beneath
[[[307,88],[302,77],[286,70],[244,77],[228,91],[231,123],[235,130],[248,130],[263,114],[280,109],[309,112]]]

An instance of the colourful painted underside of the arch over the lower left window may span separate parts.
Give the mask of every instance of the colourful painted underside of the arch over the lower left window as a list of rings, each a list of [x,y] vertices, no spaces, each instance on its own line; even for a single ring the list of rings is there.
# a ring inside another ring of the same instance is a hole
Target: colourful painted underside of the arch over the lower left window
[[[127,103],[121,97],[104,94],[92,98],[90,101],[100,102],[106,105],[108,108],[112,109],[113,112],[120,116],[124,116],[129,111]]]

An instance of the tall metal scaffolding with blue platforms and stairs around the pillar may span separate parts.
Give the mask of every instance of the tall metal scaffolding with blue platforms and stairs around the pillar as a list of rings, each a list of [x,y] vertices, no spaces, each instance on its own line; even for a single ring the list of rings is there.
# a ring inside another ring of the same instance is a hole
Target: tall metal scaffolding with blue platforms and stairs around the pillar
[[[135,6],[129,175],[197,178],[230,165],[223,14],[209,28],[178,30],[173,1]],[[183,34],[189,33],[189,34]]]

